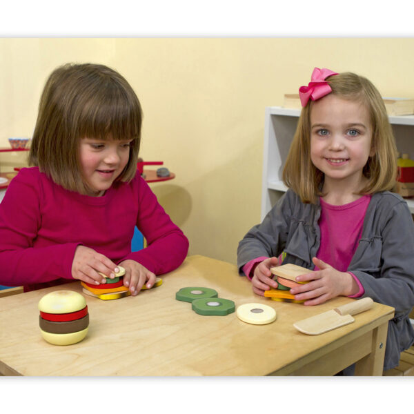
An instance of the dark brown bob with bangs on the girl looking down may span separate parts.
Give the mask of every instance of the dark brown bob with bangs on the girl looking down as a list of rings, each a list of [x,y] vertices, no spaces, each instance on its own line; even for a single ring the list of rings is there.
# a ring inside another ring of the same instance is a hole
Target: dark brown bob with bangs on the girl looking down
[[[116,180],[130,181],[137,172],[141,124],[141,105],[124,77],[107,66],[68,63],[46,81],[29,164],[63,188],[86,195],[80,139],[132,139],[128,164]]]

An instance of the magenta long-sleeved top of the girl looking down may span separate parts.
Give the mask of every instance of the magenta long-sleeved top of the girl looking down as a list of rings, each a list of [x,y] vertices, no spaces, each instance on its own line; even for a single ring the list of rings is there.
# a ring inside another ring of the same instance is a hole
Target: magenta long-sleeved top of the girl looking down
[[[148,247],[131,253],[135,225]],[[188,252],[188,239],[138,174],[90,197],[65,190],[37,167],[23,168],[0,204],[0,284],[27,291],[69,282],[79,245],[115,264],[133,259],[156,275],[177,268]]]

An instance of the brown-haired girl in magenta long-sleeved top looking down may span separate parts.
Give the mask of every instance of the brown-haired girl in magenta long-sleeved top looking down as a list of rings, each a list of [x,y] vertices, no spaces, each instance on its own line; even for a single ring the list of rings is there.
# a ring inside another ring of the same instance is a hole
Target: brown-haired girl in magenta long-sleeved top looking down
[[[177,268],[188,240],[137,174],[142,112],[107,66],[66,64],[43,89],[31,168],[0,204],[0,284],[25,291],[126,269],[132,295]],[[148,247],[131,252],[135,226]]]

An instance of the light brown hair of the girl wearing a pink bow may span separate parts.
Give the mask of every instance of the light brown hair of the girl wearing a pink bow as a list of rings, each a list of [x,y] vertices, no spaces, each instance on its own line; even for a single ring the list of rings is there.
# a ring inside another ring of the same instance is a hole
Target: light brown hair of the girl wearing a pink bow
[[[333,95],[342,99],[360,101],[368,108],[373,129],[372,146],[375,150],[364,166],[363,174],[368,182],[360,195],[391,190],[397,176],[397,148],[384,101],[365,77],[344,72],[326,78]],[[323,98],[322,98],[323,99]],[[321,192],[324,174],[311,161],[311,110],[313,101],[302,108],[292,145],[283,170],[283,181],[292,188],[304,203],[317,202]]]

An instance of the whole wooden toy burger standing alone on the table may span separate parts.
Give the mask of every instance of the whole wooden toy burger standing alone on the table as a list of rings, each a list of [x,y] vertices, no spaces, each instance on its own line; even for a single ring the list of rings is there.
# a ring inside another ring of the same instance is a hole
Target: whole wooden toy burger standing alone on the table
[[[56,290],[44,295],[38,304],[40,332],[53,345],[80,342],[89,329],[85,298],[72,290]]]

